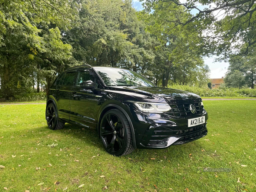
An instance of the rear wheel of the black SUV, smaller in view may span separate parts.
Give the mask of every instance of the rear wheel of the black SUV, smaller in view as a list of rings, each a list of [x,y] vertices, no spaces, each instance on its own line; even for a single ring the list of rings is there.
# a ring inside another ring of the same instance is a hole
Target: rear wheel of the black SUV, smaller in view
[[[49,105],[47,105],[45,115],[46,115],[47,125],[50,129],[52,130],[63,129],[65,123],[61,122],[60,119],[58,119],[58,113],[53,103],[50,103]]]

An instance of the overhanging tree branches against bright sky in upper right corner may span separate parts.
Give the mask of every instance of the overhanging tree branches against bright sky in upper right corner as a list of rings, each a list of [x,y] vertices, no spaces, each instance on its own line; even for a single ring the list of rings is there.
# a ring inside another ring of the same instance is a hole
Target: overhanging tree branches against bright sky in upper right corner
[[[154,10],[162,0],[146,0],[145,8]],[[181,6],[183,11],[175,11],[172,20],[163,18],[173,29],[194,26],[194,30],[204,31],[200,36],[203,54],[246,55],[256,47],[256,4],[254,0],[164,0],[163,12],[170,13],[169,7]],[[205,8],[200,9],[203,5]],[[194,15],[188,12],[196,12]],[[188,15],[183,17],[183,15]],[[241,49],[242,48],[242,49]]]

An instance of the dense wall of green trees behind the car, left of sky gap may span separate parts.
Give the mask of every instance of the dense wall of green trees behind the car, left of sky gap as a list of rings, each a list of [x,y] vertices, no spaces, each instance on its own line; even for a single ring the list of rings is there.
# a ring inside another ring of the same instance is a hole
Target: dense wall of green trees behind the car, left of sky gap
[[[176,4],[151,6],[153,13],[137,12],[131,0],[0,0],[2,95],[47,90],[77,64],[131,69],[164,87],[205,86],[202,32],[166,22],[192,15]]]

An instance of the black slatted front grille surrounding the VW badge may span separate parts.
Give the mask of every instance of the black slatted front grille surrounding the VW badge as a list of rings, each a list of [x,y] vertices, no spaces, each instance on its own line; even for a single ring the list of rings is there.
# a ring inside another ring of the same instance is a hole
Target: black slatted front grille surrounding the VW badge
[[[193,103],[182,103],[182,104],[169,104],[172,108],[170,111],[167,111],[166,113],[171,116],[192,116],[192,115],[198,115],[203,113],[204,105],[200,105],[201,102],[193,102]],[[189,105],[195,105],[196,112],[192,113],[189,110]]]

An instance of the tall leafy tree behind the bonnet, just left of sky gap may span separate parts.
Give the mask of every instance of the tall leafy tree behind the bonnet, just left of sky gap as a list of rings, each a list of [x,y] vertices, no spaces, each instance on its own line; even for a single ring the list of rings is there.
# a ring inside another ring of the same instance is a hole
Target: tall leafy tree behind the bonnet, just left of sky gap
[[[189,13],[175,4],[151,2],[147,4],[154,10],[145,9],[140,12],[140,19],[147,24],[146,30],[157,38],[155,49],[156,81],[167,87],[169,81],[178,84],[198,84],[198,73],[202,72],[204,62],[199,54],[201,33],[191,30],[191,26],[175,27],[172,21],[177,15],[186,20]],[[182,14],[184,13],[184,14]],[[206,83],[206,82],[205,82]]]

